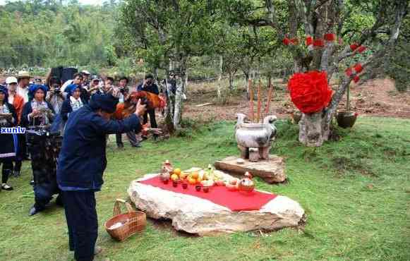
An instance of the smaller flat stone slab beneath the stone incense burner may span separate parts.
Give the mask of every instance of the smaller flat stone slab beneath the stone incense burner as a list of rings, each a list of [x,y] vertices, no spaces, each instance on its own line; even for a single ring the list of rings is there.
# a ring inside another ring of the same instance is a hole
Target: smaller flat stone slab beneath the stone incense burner
[[[284,172],[284,159],[276,155],[270,155],[267,160],[259,162],[250,162],[248,159],[243,159],[244,163],[239,164],[236,161],[239,157],[227,157],[215,162],[215,168],[226,171],[231,174],[243,175],[246,171],[251,172],[253,176],[263,178],[267,183],[282,183],[287,176]]]

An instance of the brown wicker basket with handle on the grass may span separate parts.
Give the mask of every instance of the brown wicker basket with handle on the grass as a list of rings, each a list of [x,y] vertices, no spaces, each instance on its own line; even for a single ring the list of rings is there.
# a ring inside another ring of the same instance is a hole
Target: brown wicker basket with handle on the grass
[[[120,203],[126,205],[128,210],[127,213],[121,214]],[[104,223],[105,230],[109,235],[116,241],[124,241],[126,238],[132,236],[133,234],[143,231],[147,224],[147,216],[144,212],[135,211],[133,207],[125,200],[117,199],[114,203],[113,210],[114,217],[111,217],[107,222]],[[121,223],[121,226],[114,226],[114,224]]]

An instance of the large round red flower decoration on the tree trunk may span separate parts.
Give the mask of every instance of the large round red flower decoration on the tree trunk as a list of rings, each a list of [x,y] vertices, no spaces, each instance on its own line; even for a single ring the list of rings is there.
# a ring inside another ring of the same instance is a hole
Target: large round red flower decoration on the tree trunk
[[[325,72],[295,73],[289,80],[288,88],[292,102],[304,114],[321,111],[332,99]]]

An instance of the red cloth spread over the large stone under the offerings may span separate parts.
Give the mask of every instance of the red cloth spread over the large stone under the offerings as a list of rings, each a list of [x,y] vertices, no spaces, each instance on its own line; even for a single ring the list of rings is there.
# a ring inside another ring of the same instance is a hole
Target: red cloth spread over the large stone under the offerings
[[[193,195],[198,198],[203,198],[204,200],[210,200],[211,202],[227,207],[232,211],[260,210],[263,205],[276,198],[275,194],[259,191],[253,191],[251,193],[229,191],[225,186],[213,186],[208,193],[204,193],[202,190],[199,192],[196,191],[195,185],[188,185],[187,189],[183,189],[182,184],[178,184],[178,186],[174,188],[174,186],[172,186],[172,181],[169,181],[168,184],[164,184],[159,179],[159,176],[148,178],[145,181],[140,181],[140,183],[176,193]]]

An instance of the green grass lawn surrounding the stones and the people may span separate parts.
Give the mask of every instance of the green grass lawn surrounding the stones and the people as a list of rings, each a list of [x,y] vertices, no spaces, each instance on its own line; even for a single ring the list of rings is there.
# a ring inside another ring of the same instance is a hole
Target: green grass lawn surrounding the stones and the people
[[[115,143],[107,149],[105,184],[97,193],[100,231],[97,243],[111,260],[410,260],[410,121],[360,118],[339,142],[319,148],[297,142],[297,126],[277,123],[271,152],[286,158],[289,183],[263,190],[287,195],[308,215],[304,230],[282,229],[268,236],[234,233],[187,237],[152,221],[142,234],[112,241],[102,224],[116,198],[126,198],[131,180],[159,170],[169,159],[176,166],[207,166],[238,154],[234,123],[215,123],[182,138],[145,142],[135,150]],[[127,142],[126,140],[124,140]],[[31,171],[11,178],[13,192],[0,193],[2,260],[72,260],[64,211],[52,203],[28,217],[32,205]],[[99,257],[100,259],[102,257]],[[100,260],[97,259],[97,260]]]

